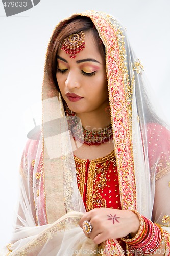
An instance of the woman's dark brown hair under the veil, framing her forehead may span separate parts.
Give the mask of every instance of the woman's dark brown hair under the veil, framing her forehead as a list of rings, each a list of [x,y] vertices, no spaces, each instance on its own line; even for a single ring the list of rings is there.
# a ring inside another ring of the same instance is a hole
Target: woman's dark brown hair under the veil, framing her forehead
[[[47,70],[48,70],[49,79],[52,83],[55,84],[57,90],[59,90],[57,79],[56,79],[57,52],[61,48],[64,39],[68,35],[78,31],[82,31],[82,30],[92,32],[94,42],[98,47],[99,52],[102,55],[103,59],[105,60],[105,46],[101,38],[99,37],[99,33],[96,30],[90,18],[84,17],[84,16],[76,16],[74,18],[67,20],[66,22],[60,23],[51,39],[52,49],[50,49],[50,54],[48,55],[48,59],[47,59],[47,65],[48,65]]]

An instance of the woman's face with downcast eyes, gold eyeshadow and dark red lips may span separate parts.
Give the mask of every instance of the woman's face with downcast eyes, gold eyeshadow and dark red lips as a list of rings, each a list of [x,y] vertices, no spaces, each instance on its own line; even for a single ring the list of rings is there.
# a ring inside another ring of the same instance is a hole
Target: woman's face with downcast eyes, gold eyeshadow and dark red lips
[[[85,48],[76,58],[58,51],[57,82],[70,110],[100,112],[109,105],[105,62],[91,32],[85,32],[84,41]]]

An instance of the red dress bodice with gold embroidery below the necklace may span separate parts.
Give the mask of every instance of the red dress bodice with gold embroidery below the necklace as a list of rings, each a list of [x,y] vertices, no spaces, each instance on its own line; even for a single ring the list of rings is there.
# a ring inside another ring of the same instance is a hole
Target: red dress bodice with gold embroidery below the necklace
[[[118,206],[116,208],[119,209],[120,196],[114,151],[89,162],[86,159],[74,158],[78,187],[82,198],[86,197],[87,210],[96,207],[115,208],[115,202]],[[110,164],[112,164],[111,169],[109,169]]]

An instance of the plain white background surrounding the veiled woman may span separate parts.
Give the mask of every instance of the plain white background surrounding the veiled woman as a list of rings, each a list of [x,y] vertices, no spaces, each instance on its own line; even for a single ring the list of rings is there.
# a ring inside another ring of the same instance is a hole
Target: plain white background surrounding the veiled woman
[[[75,12],[104,11],[127,29],[161,108],[170,121],[169,0],[41,0],[34,8],[6,17],[0,1],[0,248],[12,232],[18,197],[19,163],[27,140],[26,110],[41,101],[43,66],[55,25]]]

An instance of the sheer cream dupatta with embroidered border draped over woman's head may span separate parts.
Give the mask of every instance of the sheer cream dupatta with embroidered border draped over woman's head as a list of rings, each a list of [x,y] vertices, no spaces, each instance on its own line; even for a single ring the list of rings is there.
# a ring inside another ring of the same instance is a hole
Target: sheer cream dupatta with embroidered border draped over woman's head
[[[117,240],[98,246],[78,221],[85,212],[63,103],[50,81],[49,56],[70,18],[90,17],[106,49],[106,72],[122,209],[135,209],[163,227],[170,255],[170,133],[149,103],[143,66],[126,31],[108,14],[86,11],[62,20],[46,53],[42,129],[29,133],[21,160],[21,196],[10,255],[124,255]],[[128,250],[128,255],[137,252]],[[2,254],[2,255],[4,255]]]

